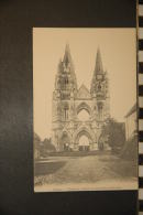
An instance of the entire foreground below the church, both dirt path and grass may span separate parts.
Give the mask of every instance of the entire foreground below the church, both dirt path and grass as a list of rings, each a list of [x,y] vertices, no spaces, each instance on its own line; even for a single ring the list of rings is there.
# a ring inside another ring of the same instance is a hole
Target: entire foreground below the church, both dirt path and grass
[[[133,190],[138,165],[111,154],[50,157],[35,163],[35,191]]]

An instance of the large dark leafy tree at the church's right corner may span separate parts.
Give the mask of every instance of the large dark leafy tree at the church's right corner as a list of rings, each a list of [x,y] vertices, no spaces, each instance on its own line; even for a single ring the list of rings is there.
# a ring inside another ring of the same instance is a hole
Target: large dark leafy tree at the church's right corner
[[[119,152],[125,142],[124,123],[118,122],[113,118],[109,118],[102,126],[100,140],[105,139],[111,147],[113,152]],[[100,143],[102,141],[99,141]]]

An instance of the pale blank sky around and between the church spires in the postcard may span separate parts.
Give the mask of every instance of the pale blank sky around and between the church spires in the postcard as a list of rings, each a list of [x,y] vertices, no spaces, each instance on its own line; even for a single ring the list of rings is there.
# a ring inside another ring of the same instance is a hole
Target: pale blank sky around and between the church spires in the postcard
[[[59,58],[69,44],[78,88],[90,83],[100,47],[103,68],[110,84],[110,114],[119,121],[136,101],[135,29],[34,28],[33,85],[34,131],[42,139],[51,137],[52,93]]]

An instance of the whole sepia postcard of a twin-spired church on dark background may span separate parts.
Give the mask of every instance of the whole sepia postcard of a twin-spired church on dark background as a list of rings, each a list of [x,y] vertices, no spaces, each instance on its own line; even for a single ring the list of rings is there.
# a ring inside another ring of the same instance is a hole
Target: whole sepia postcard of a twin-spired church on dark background
[[[33,28],[34,192],[138,189],[136,31]]]

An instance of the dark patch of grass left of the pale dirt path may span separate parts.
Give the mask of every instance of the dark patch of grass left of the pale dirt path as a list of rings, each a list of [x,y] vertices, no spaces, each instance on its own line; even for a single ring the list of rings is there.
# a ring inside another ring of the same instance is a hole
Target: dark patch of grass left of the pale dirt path
[[[65,165],[66,161],[48,162],[48,163],[35,163],[34,175],[46,175],[56,172]]]

